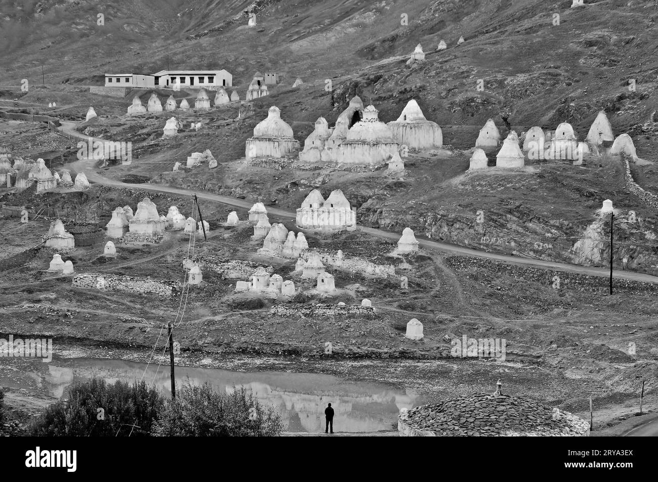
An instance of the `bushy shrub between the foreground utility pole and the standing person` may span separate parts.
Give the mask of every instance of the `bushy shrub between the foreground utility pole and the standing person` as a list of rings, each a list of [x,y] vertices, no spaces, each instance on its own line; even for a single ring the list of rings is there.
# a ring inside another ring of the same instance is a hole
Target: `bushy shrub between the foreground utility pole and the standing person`
[[[283,423],[272,407],[264,408],[244,387],[226,395],[210,385],[188,383],[176,392],[153,427],[159,437],[273,437]]]

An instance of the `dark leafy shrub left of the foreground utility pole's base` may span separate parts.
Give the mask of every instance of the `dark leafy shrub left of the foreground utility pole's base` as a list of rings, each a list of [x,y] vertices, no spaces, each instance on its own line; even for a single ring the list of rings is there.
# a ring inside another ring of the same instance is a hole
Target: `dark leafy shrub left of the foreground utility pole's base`
[[[91,379],[74,385],[68,400],[49,405],[30,425],[29,433],[37,437],[127,437],[132,430],[132,436],[149,435],[163,407],[164,397],[144,381],[108,385],[105,380]],[[129,426],[133,424],[137,425],[134,429]]]

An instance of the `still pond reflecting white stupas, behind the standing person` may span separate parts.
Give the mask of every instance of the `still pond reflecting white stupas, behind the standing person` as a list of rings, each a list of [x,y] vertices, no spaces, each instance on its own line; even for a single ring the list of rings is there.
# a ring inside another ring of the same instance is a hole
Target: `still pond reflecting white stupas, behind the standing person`
[[[100,358],[70,358],[43,363],[25,358],[0,358],[0,385],[65,397],[76,381],[93,377],[114,381],[141,379],[146,364]],[[168,366],[151,364],[144,378],[170,397]],[[208,382],[216,390],[231,393],[243,385],[259,402],[274,407],[286,431],[324,431],[324,408],[335,410],[335,431],[391,429],[401,408],[413,408],[426,400],[413,391],[392,389],[370,382],[346,381],[332,375],[287,372],[229,372],[216,368],[176,367],[177,386]]]

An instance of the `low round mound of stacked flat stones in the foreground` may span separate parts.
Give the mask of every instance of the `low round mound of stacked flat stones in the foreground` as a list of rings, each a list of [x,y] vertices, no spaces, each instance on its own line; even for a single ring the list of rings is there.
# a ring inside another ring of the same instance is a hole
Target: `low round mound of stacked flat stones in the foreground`
[[[513,395],[474,393],[400,414],[403,437],[588,437],[590,422]]]

